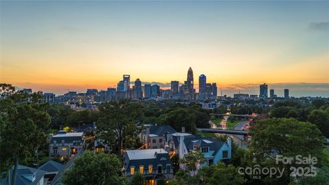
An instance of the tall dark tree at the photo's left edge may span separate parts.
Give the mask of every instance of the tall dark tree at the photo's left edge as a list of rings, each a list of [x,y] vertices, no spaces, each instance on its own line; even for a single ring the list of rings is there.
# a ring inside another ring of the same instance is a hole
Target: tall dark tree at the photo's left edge
[[[8,84],[1,84],[0,122],[1,122],[1,171],[14,164],[11,184],[16,183],[17,167],[20,160],[31,156],[47,143],[45,134],[50,123],[50,116],[45,111],[42,97],[34,93],[12,91]]]

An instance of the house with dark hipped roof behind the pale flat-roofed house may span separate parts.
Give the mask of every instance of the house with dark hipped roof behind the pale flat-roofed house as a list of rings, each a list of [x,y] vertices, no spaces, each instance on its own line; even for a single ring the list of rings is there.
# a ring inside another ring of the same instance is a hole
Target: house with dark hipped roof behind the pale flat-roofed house
[[[164,149],[167,143],[167,135],[176,133],[170,125],[149,126],[141,133],[141,140],[146,149]]]

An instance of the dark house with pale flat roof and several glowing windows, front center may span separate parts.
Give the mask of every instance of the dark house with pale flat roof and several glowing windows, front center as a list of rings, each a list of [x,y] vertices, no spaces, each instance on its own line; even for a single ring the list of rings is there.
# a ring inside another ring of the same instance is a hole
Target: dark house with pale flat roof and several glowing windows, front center
[[[123,175],[128,179],[135,173],[145,177],[146,185],[158,180],[173,179],[173,163],[164,149],[127,150],[124,153]]]

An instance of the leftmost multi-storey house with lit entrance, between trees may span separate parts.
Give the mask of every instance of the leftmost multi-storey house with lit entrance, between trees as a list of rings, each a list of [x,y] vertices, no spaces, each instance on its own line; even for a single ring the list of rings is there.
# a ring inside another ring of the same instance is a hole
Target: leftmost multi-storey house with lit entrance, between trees
[[[84,132],[66,132],[49,134],[49,156],[66,158],[84,149]]]

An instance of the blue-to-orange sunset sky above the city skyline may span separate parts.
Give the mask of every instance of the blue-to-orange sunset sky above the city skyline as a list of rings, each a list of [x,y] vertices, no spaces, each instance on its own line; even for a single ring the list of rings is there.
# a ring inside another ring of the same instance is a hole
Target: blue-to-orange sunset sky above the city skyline
[[[66,93],[205,74],[329,97],[329,1],[1,1],[1,83]]]

